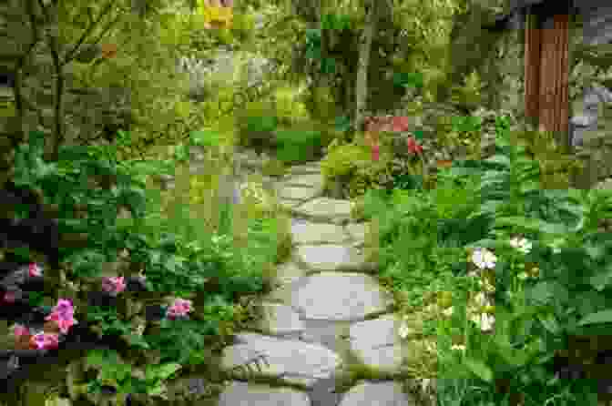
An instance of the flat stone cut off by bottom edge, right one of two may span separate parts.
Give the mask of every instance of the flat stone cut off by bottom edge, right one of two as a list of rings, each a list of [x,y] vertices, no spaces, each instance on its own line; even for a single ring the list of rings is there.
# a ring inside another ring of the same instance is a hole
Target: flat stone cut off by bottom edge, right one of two
[[[416,406],[417,401],[403,393],[400,382],[359,381],[347,391],[339,406]]]

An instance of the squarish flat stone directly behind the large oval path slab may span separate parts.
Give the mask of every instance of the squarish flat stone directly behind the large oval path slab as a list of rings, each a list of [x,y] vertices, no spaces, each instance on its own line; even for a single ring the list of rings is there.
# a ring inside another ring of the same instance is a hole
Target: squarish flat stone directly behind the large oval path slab
[[[295,259],[302,268],[314,272],[326,270],[371,272],[376,264],[366,262],[360,249],[337,244],[299,245]]]

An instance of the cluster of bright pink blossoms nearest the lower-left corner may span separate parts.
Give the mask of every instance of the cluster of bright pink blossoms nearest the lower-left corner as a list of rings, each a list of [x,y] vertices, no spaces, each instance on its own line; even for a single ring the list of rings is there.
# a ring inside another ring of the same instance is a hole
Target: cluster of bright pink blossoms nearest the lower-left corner
[[[56,306],[45,320],[43,331],[33,332],[21,324],[15,324],[13,334],[18,350],[54,350],[59,345],[60,334],[67,334],[77,321],[69,299],[57,300]]]

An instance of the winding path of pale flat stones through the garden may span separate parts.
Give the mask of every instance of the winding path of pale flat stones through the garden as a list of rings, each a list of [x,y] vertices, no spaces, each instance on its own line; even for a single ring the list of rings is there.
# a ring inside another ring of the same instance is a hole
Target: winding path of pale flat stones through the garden
[[[364,259],[365,224],[352,222],[348,200],[322,198],[322,183],[318,162],[291,167],[275,183],[292,214],[292,259],[279,266],[278,288],[261,303],[263,319],[237,334],[221,367],[230,370],[259,356],[268,363],[260,363],[249,381],[230,381],[219,406],[418,405],[402,381],[393,380],[403,345],[393,299]],[[336,378],[354,363],[387,380],[350,382],[342,393]]]

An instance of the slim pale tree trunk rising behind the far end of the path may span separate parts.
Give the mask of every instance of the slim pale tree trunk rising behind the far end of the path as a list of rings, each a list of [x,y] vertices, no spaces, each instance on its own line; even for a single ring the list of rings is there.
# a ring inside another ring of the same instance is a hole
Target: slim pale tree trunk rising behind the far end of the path
[[[378,5],[380,2],[371,0],[366,3],[365,26],[363,27],[359,47],[359,62],[357,64],[357,80],[355,85],[355,130],[362,128],[363,114],[368,96],[368,67],[370,66],[370,52],[372,51],[372,38],[376,32],[378,18]]]

